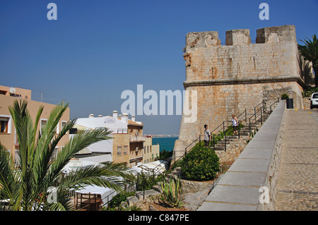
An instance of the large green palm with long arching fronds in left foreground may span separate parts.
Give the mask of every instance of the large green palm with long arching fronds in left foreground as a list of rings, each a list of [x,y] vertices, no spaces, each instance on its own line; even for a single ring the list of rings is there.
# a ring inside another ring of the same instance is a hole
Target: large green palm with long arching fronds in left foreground
[[[56,133],[57,124],[69,104],[61,103],[54,107],[41,131],[38,131],[37,127],[43,107],[37,111],[33,123],[27,105],[25,100],[16,100],[13,106],[9,107],[19,140],[18,166],[0,143],[0,199],[9,200],[9,209],[69,210],[71,206],[67,195],[71,190],[96,185],[122,191],[124,182],[133,179],[133,176],[126,172],[125,164],[113,163],[85,166],[68,176],[62,176],[61,170],[74,154],[95,142],[110,139],[111,131],[83,131],[72,137],[54,157],[57,143],[76,123],[76,119],[73,119],[59,134]],[[57,188],[57,198],[54,202],[47,200],[51,194],[49,187]]]

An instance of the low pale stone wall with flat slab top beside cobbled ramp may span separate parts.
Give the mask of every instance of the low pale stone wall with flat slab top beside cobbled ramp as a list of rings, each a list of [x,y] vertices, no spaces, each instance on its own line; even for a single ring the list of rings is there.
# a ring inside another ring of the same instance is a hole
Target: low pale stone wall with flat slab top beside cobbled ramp
[[[284,116],[285,101],[281,101],[198,211],[273,209]],[[269,188],[269,203],[259,202],[263,186]]]

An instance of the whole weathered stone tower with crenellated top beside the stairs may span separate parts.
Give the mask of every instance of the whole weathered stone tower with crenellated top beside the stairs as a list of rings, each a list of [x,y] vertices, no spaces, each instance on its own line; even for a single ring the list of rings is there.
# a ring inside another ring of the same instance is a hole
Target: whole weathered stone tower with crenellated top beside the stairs
[[[302,86],[298,43],[294,25],[257,30],[251,44],[249,30],[226,31],[225,45],[218,32],[190,32],[186,37],[184,89],[196,91],[196,120],[182,114],[176,157],[204,135],[204,124],[213,130],[232,113],[254,108],[263,99],[273,102],[284,92],[302,109]],[[195,100],[195,99],[192,99]]]

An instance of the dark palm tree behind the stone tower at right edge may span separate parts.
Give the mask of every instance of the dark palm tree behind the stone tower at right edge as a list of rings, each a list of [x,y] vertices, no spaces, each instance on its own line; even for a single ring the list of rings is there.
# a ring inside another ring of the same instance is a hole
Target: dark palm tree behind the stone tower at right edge
[[[305,45],[298,44],[298,49],[305,60],[312,62],[312,67],[314,68],[314,84],[318,87],[318,41],[317,36],[313,35],[312,40],[308,37],[307,39],[301,40]]]

